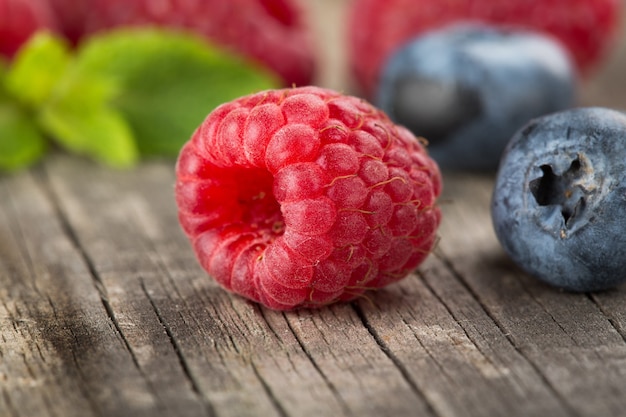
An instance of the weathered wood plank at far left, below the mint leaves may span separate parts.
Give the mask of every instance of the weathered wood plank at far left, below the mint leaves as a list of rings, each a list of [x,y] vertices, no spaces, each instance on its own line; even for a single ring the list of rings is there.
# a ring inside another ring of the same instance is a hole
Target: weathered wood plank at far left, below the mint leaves
[[[123,415],[137,402],[156,406],[35,176],[0,180],[0,350],[7,410],[15,416],[90,416]]]

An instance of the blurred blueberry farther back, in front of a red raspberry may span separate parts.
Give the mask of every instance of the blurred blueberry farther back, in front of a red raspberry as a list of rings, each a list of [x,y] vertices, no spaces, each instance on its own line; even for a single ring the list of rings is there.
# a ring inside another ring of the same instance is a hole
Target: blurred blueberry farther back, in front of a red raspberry
[[[523,124],[574,105],[576,84],[569,56],[551,38],[466,23],[400,47],[375,101],[425,137],[442,168],[493,171]]]

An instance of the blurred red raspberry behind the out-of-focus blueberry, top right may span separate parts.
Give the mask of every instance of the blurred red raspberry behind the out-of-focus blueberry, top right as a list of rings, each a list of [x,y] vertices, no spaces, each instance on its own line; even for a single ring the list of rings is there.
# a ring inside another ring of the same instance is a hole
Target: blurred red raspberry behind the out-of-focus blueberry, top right
[[[369,96],[398,46],[426,30],[472,20],[550,34],[584,74],[604,55],[620,12],[621,0],[360,0],[350,10],[349,62]]]

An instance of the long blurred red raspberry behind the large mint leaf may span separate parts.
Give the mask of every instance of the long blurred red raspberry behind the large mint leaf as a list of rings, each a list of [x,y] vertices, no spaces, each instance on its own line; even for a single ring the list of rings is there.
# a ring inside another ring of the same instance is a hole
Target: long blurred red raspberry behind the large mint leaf
[[[257,60],[286,85],[313,78],[313,43],[293,0],[50,0],[74,42],[94,32],[129,25],[159,25],[196,32]]]

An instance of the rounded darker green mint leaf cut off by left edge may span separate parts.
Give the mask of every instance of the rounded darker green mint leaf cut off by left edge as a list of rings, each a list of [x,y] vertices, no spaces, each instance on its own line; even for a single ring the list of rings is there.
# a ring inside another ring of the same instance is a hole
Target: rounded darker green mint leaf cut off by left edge
[[[14,103],[0,97],[0,171],[15,171],[39,160],[46,142],[35,122]]]

